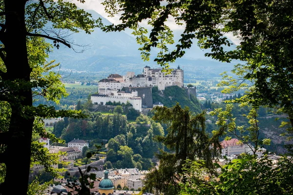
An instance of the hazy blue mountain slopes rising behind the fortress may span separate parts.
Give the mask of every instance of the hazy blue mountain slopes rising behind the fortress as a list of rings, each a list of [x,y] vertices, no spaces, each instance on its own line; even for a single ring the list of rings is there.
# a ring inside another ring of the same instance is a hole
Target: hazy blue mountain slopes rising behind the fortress
[[[100,14],[93,10],[87,10],[93,18],[102,18],[105,24],[111,24]],[[175,40],[179,39],[180,31],[174,32]],[[61,46],[58,50],[50,54],[49,59],[56,59],[61,63],[62,69],[96,72],[96,73],[118,73],[125,74],[127,71],[134,71],[136,74],[142,72],[143,67],[158,67],[156,62],[143,61],[141,59],[140,45],[136,43],[134,37],[126,32],[105,33],[100,29],[94,29],[91,35],[80,32],[72,34],[71,41],[79,45],[91,45],[86,47],[83,53],[76,53],[72,49]],[[75,47],[81,49],[81,47]],[[185,75],[205,75],[209,77],[218,76],[223,71],[230,71],[232,64],[221,63],[204,56],[206,52],[202,51],[196,44],[186,51],[182,59],[177,59],[171,67],[178,65],[184,66]],[[152,59],[156,57],[156,50],[152,52]],[[185,77],[186,78],[186,77]]]

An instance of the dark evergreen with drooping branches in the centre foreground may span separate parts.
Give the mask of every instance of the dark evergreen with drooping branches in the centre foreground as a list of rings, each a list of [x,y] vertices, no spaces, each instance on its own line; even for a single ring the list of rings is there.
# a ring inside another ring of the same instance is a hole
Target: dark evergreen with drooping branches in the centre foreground
[[[156,107],[154,120],[168,124],[167,136],[157,137],[170,152],[156,154],[160,160],[158,169],[146,175],[146,189],[155,189],[166,195],[177,195],[178,177],[187,159],[204,159],[206,166],[213,167],[212,157],[219,155],[219,136],[223,130],[215,131],[213,137],[205,132],[205,113],[192,116],[189,108],[182,109],[177,103],[172,108]]]

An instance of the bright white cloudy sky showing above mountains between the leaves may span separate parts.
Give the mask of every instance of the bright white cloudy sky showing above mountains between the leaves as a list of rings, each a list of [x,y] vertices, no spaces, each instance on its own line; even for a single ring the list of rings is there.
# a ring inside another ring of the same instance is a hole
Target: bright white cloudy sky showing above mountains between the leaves
[[[114,24],[119,24],[121,23],[119,18],[120,16],[117,15],[115,17],[108,17],[108,14],[105,13],[104,10],[104,6],[101,4],[101,2],[103,2],[104,0],[85,0],[85,3],[81,3],[77,0],[73,0],[73,2],[76,3],[76,5],[82,9],[85,10],[94,10],[96,12],[98,12],[100,15],[102,15],[104,18],[106,18],[107,20],[109,20],[110,22],[114,23]],[[184,26],[178,26],[175,24],[174,19],[168,19],[166,24],[170,27],[171,30],[180,30],[180,29],[184,29]],[[146,21],[142,22],[141,24],[144,27],[147,27]],[[232,33],[227,33],[225,34],[225,36],[230,39],[231,41],[233,41],[236,45],[239,45],[240,40],[233,37]]]

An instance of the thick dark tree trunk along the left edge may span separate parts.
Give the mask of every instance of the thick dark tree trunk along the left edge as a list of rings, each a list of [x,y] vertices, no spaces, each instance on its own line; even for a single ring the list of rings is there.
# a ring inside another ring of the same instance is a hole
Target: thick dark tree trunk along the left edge
[[[8,100],[12,114],[9,126],[9,143],[6,152],[6,176],[1,184],[0,194],[25,195],[27,193],[33,116],[27,116],[24,108],[32,106],[32,90],[28,85],[31,68],[27,59],[25,9],[26,0],[4,0],[5,39],[3,41],[7,72],[2,80],[18,83],[18,88],[11,87],[9,94],[14,98]],[[26,83],[26,85],[24,85]]]

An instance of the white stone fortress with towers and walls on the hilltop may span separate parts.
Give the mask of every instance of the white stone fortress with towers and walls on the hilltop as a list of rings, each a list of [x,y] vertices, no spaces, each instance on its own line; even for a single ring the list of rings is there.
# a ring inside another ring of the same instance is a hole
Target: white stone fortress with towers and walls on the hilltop
[[[109,101],[125,104],[128,102],[139,111],[142,111],[142,108],[152,108],[153,86],[157,86],[159,90],[173,85],[184,87],[184,72],[180,66],[169,74],[162,70],[146,66],[143,73],[138,75],[134,72],[127,72],[126,76],[111,74],[99,81],[99,94],[93,94],[91,100],[99,105],[105,105]]]

